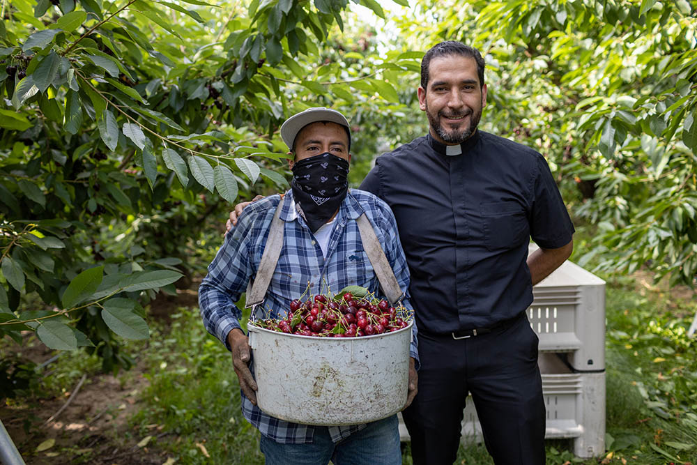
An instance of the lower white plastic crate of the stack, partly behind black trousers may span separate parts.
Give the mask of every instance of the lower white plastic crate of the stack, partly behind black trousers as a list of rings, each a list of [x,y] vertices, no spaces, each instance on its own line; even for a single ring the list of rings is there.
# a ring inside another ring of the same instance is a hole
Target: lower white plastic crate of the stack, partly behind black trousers
[[[605,373],[572,373],[554,358],[555,354],[544,353],[539,360],[546,409],[544,437],[572,439],[578,457],[600,455],[605,450]],[[408,441],[401,414],[399,434],[402,441]],[[461,435],[464,443],[482,441],[482,427],[471,396],[463,412]]]

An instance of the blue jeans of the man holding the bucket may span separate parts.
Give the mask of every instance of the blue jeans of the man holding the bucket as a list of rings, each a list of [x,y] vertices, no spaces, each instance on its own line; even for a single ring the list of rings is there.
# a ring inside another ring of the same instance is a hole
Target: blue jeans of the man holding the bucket
[[[327,427],[315,427],[312,443],[281,444],[261,435],[266,465],[401,465],[397,415],[369,423],[333,443]]]

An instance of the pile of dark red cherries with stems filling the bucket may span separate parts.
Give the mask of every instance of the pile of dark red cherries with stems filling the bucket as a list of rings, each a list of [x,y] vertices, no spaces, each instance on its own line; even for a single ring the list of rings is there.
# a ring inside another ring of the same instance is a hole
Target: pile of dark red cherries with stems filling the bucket
[[[333,297],[318,294],[305,302],[293,300],[284,319],[256,320],[250,324],[301,336],[361,337],[406,328],[412,317],[409,312],[370,294],[362,297],[351,292]]]

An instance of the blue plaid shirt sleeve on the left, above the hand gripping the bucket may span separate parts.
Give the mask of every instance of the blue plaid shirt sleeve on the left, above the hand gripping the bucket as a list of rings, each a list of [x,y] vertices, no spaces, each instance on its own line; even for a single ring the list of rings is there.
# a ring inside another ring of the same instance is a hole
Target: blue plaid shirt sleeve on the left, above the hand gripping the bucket
[[[235,303],[242,294],[254,273],[250,263],[254,252],[254,243],[265,225],[268,229],[261,208],[247,208],[240,215],[237,227],[225,235],[225,241],[208,266],[208,275],[199,287],[199,307],[201,319],[208,333],[217,337],[228,350],[227,335],[231,330],[240,328],[242,312]],[[272,211],[273,213],[273,211]]]

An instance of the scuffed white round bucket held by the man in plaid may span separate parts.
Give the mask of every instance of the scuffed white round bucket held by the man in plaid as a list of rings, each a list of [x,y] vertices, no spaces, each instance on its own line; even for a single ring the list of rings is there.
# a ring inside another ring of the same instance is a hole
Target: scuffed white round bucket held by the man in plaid
[[[408,391],[411,325],[342,338],[247,326],[259,408],[304,425],[358,425],[397,413]]]

